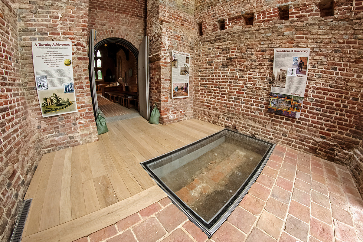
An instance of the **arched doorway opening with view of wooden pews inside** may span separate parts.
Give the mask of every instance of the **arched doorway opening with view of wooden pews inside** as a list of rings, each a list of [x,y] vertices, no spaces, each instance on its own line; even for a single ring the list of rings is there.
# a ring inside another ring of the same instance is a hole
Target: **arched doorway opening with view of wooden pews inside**
[[[138,54],[123,38],[106,38],[94,45],[93,98],[108,122],[138,115]]]

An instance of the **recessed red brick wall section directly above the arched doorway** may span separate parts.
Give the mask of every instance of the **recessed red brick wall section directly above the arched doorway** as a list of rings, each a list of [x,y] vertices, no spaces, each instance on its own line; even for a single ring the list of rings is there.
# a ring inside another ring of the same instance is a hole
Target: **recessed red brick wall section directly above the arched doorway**
[[[146,33],[146,0],[89,1],[88,32],[97,31],[97,40],[124,38],[139,49]]]

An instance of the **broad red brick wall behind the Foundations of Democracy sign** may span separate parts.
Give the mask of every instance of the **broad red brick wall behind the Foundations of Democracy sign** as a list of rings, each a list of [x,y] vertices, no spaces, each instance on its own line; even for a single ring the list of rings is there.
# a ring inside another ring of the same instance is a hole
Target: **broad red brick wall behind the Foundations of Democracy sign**
[[[309,0],[290,6],[293,19],[267,14],[283,2],[196,1],[195,22],[206,27],[195,41],[194,116],[347,164],[363,135],[362,13],[336,1],[335,16],[322,18]],[[218,19],[246,13],[254,25],[216,30]],[[293,47],[310,48],[299,119],[267,112],[274,48]]]

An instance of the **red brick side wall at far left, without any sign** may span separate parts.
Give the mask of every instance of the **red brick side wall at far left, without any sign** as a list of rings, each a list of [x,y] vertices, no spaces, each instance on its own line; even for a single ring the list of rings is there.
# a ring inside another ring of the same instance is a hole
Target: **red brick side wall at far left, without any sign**
[[[0,241],[8,241],[41,150],[20,78],[16,11],[0,1]]]

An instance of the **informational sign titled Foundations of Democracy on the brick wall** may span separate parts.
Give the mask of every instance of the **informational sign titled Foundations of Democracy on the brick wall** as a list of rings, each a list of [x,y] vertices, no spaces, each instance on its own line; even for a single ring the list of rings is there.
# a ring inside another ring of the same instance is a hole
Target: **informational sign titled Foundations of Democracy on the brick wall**
[[[300,117],[309,54],[309,48],[275,49],[269,112]]]

